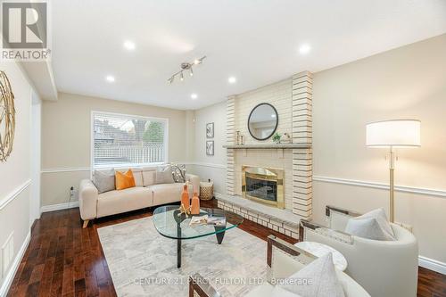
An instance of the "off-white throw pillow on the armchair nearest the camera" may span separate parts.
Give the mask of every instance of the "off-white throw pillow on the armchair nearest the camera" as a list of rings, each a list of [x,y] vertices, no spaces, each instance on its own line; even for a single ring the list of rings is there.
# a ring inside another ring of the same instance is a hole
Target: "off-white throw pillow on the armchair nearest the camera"
[[[301,297],[345,297],[331,252],[312,261],[277,286]]]

